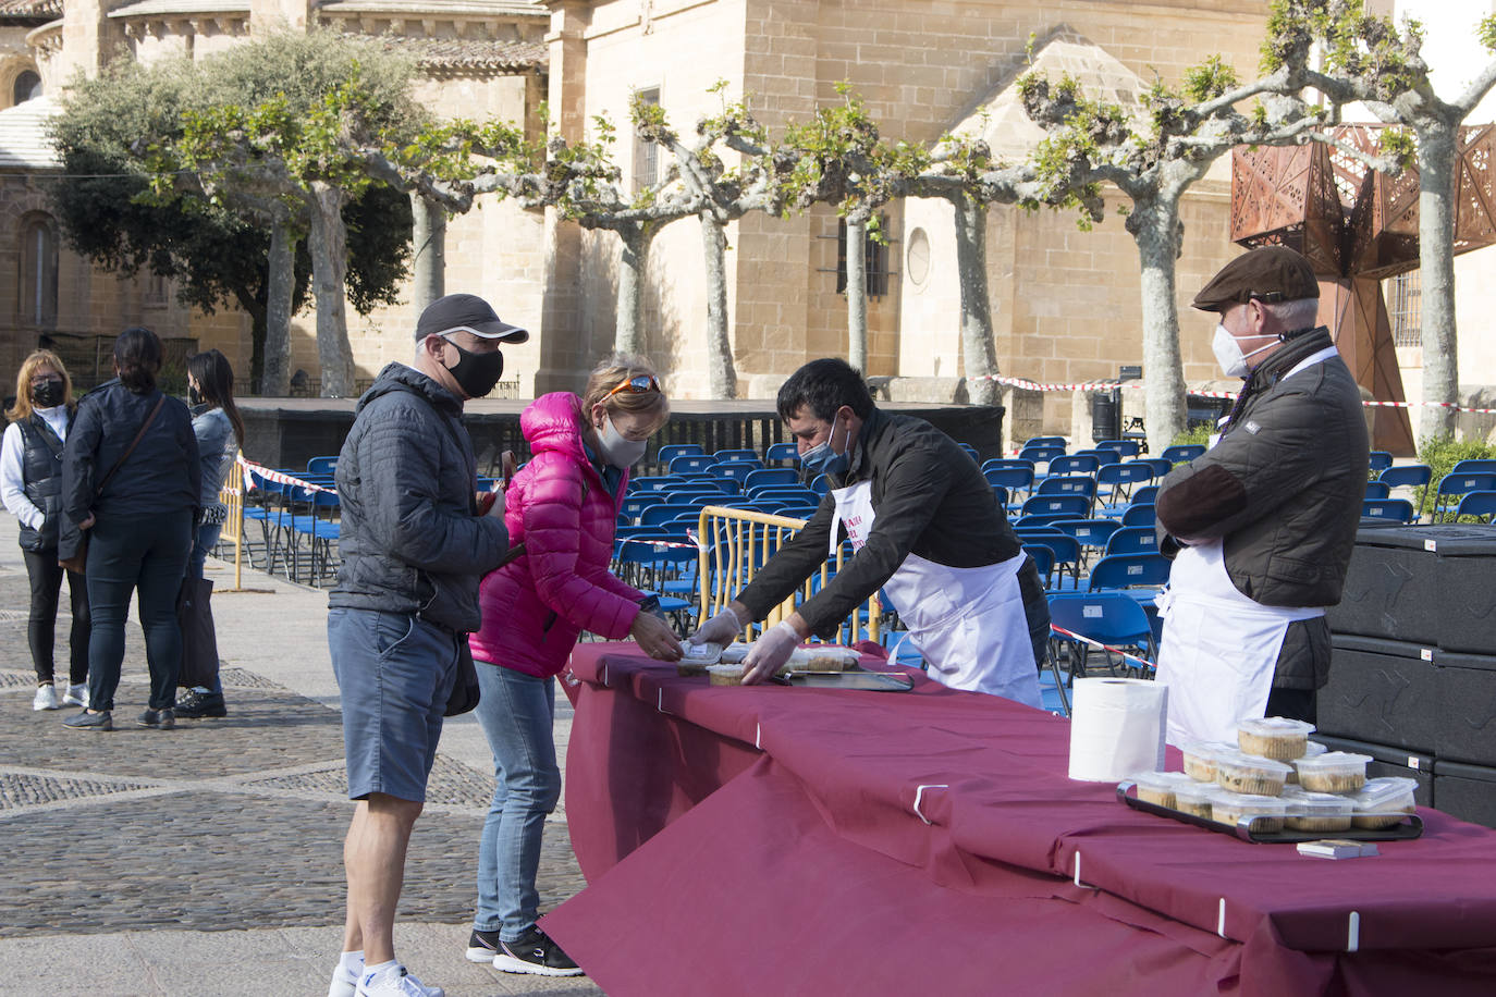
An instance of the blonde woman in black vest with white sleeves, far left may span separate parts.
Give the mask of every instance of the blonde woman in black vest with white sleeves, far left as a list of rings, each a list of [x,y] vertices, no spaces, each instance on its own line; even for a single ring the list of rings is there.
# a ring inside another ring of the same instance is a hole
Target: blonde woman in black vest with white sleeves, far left
[[[57,596],[63,589],[63,567],[57,564],[57,538],[72,523],[63,510],[63,445],[78,407],[73,383],[61,357],[37,350],[21,363],[15,378],[15,405],[6,410],[10,425],[0,441],[0,496],[21,520],[21,556],[31,581],[31,616],[27,640],[36,668],[33,710],[55,710],[52,649],[57,644]],[[69,634],[67,692],[63,703],[88,706],[88,586],[67,571],[67,596],[73,610]]]

